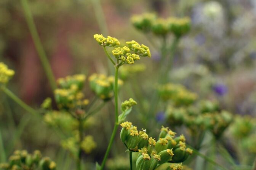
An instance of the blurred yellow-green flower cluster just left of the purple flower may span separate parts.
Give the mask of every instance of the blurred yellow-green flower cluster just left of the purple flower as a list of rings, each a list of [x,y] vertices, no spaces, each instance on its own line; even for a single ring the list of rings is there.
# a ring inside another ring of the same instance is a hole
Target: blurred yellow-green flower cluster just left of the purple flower
[[[188,91],[179,84],[167,83],[158,86],[158,93],[163,100],[171,99],[175,105],[190,105],[197,99],[197,94]]]

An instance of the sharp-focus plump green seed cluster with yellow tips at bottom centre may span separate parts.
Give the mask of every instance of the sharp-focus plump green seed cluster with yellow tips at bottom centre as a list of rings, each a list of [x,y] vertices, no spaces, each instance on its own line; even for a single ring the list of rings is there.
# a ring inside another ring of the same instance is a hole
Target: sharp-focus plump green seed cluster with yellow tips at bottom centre
[[[165,162],[179,163],[192,154],[186,147],[184,135],[175,137],[176,133],[169,128],[162,127],[158,140],[147,135],[146,130],[138,131],[131,122],[123,122],[120,138],[130,151],[139,151],[137,170],[154,170],[157,165]]]

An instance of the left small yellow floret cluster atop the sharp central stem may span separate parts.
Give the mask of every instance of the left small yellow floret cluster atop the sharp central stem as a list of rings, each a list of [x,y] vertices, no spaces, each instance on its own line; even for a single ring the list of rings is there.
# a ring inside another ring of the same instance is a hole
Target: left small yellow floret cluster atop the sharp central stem
[[[102,34],[95,34],[93,36],[93,38],[99,43],[99,45],[101,46],[110,46],[110,47],[114,47],[116,45],[120,45],[120,42],[118,41],[118,39],[111,37],[111,36],[107,36],[107,38],[105,38]]]

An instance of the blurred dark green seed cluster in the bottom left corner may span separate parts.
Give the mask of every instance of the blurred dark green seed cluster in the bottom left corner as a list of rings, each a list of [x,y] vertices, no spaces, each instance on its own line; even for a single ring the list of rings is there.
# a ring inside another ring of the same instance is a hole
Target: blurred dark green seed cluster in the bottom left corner
[[[0,164],[1,170],[56,170],[56,163],[49,157],[42,157],[40,151],[33,154],[26,150],[14,151],[7,163]]]

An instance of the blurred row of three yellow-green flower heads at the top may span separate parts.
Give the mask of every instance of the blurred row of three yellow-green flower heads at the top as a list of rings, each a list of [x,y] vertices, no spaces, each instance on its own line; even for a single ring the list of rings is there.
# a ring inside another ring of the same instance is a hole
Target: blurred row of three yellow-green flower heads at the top
[[[157,17],[154,13],[134,15],[131,17],[131,22],[135,28],[145,33],[151,31],[155,35],[161,36],[173,33],[176,37],[181,37],[188,33],[191,25],[188,17],[169,17],[165,19]]]

